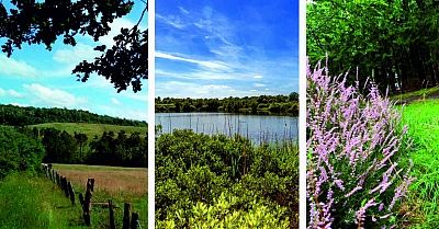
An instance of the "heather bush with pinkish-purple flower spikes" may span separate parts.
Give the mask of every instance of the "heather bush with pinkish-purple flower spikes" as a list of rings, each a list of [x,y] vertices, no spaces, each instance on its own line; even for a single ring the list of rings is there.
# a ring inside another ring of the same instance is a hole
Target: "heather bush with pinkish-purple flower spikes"
[[[407,127],[373,82],[363,96],[358,81],[346,88],[347,75],[327,72],[320,62],[313,72],[307,66],[308,228],[396,227],[415,180]]]

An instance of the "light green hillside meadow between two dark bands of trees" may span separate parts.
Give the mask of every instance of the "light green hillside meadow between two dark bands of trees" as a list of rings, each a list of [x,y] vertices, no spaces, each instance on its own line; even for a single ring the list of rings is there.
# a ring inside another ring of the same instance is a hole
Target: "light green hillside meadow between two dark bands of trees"
[[[138,131],[140,133],[140,138],[146,136],[148,131],[148,127],[135,127],[135,126],[116,126],[116,125],[108,125],[108,124],[87,124],[87,123],[45,123],[38,125],[32,125],[31,128],[56,128],[59,130],[66,130],[68,134],[74,135],[74,133],[82,133],[86,134],[87,137],[93,139],[97,135],[98,137],[102,136],[103,131],[113,131],[114,134],[124,130],[127,135],[132,133]]]

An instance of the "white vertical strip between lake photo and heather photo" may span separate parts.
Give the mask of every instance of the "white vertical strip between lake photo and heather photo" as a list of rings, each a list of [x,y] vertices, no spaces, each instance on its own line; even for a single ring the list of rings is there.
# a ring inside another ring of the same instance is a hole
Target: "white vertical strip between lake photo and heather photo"
[[[299,228],[306,228],[306,0],[299,1]]]

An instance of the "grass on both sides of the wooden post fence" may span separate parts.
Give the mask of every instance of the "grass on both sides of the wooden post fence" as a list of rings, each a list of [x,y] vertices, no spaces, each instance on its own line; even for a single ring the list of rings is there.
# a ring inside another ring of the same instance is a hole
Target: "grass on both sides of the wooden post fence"
[[[54,164],[54,170],[72,182],[77,205],[45,176],[13,174],[0,184],[0,228],[88,228],[83,225],[78,194],[86,192],[88,178],[94,179],[92,202],[113,201],[116,227],[122,227],[124,203],[139,213],[147,227],[147,169]],[[19,190],[20,192],[16,192]],[[12,216],[12,217],[11,217]],[[91,228],[109,227],[109,209],[93,206]]]

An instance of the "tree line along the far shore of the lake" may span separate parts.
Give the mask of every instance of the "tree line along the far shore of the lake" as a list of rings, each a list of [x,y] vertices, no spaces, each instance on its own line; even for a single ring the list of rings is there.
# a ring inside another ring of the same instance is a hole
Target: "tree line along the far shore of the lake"
[[[259,95],[225,99],[155,99],[156,113],[160,112],[270,112],[275,114],[299,114],[299,93],[289,95]]]

